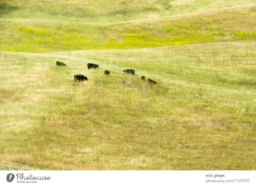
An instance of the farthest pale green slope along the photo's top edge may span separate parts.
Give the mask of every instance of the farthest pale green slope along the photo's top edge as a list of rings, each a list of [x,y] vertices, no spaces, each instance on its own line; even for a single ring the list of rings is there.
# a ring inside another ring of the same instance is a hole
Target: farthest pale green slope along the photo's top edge
[[[254,0],[1,0],[0,18],[113,23],[255,4]]]

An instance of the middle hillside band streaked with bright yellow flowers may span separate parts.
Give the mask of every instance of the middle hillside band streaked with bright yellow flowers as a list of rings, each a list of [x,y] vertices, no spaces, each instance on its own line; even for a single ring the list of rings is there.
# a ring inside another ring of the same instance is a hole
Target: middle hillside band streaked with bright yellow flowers
[[[18,10],[17,15],[12,15],[14,18],[16,16],[22,18]],[[48,18],[34,20],[5,19],[6,15],[3,17],[0,24],[0,50],[15,52],[130,49],[256,40],[256,6],[247,5],[144,21],[122,22],[118,17],[119,22],[115,24],[109,24],[101,17],[98,17],[99,21],[89,23],[59,21],[60,18],[52,22]]]

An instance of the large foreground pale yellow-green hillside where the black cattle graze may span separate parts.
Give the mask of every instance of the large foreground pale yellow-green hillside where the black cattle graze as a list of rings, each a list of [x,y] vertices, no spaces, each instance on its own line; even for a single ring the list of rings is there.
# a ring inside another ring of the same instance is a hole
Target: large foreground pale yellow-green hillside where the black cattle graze
[[[255,46],[1,51],[0,161],[39,169],[255,170]],[[87,70],[89,61],[100,68]],[[127,68],[136,75],[122,74]],[[75,74],[88,81],[74,83]]]

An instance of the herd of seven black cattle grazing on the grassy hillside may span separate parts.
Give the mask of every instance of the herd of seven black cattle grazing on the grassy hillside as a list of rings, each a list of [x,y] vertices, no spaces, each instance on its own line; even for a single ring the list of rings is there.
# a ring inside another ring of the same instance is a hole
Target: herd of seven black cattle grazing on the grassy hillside
[[[56,66],[67,66],[67,65],[65,63],[60,62],[60,61],[56,61]],[[88,63],[87,67],[88,67],[88,70],[89,70],[90,68],[99,68],[99,65],[96,65],[96,64],[93,64],[93,63]],[[123,73],[134,75],[135,70],[127,69],[127,70],[123,70]],[[109,75],[110,72],[108,70],[105,70],[104,74]],[[145,76],[141,76],[140,79],[142,81],[145,81]],[[82,74],[74,75],[74,82],[75,81],[84,81],[84,80],[87,81],[87,77],[85,77],[84,75],[82,75]],[[148,84],[157,84],[157,82],[148,78]]]

